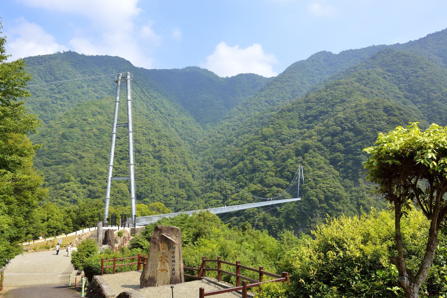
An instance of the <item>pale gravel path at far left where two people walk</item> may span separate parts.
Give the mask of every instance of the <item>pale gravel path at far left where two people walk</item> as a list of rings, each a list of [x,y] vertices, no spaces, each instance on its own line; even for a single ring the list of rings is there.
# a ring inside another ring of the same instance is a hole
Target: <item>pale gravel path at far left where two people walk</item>
[[[5,290],[27,285],[68,283],[72,274],[74,282],[76,271],[70,263],[67,252],[43,251],[16,256],[4,270]]]

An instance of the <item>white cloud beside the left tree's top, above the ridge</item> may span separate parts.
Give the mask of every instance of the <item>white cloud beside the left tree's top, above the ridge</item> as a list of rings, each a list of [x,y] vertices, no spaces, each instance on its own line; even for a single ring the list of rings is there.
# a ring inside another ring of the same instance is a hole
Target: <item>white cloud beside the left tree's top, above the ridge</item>
[[[13,55],[11,60],[67,50],[65,46],[55,42],[54,36],[46,33],[41,26],[24,18],[17,20],[17,26],[9,29],[7,36],[6,48],[7,53]]]

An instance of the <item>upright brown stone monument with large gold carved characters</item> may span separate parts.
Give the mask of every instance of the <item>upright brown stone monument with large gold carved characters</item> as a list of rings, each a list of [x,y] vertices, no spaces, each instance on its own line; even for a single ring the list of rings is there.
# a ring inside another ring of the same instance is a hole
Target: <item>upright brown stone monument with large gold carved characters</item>
[[[185,282],[178,227],[158,225],[151,237],[151,250],[140,276],[140,288]]]

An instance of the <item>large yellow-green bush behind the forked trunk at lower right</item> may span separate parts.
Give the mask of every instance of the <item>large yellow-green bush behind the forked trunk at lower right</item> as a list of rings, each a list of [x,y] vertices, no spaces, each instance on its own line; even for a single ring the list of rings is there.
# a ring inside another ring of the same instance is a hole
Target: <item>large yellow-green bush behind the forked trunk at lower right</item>
[[[396,267],[390,262],[396,254],[393,216],[392,211],[371,210],[360,217],[331,218],[312,232],[315,239],[308,235],[297,239],[281,261],[291,273],[296,297],[405,297],[397,285]],[[413,272],[422,260],[428,228],[428,220],[415,209],[401,220],[405,254],[409,256],[406,265]],[[425,283],[421,297],[426,297],[423,292],[428,289],[431,294],[441,290]]]

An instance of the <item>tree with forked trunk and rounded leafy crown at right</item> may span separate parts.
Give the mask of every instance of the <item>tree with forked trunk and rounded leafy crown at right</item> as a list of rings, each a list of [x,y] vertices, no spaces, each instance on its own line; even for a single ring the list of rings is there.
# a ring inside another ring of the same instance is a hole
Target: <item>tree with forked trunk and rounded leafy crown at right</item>
[[[365,162],[367,179],[394,206],[397,256],[390,259],[399,273],[399,285],[408,298],[419,297],[438,245],[438,232],[447,214],[447,127],[432,124],[422,131],[417,122],[388,134],[380,133],[374,146],[363,149],[371,154]],[[401,218],[412,202],[430,220],[425,254],[417,268],[406,263]]]

